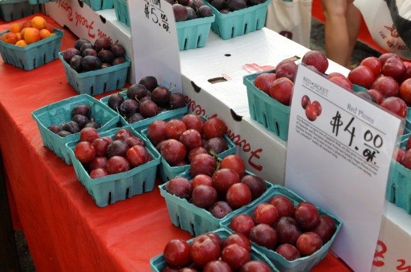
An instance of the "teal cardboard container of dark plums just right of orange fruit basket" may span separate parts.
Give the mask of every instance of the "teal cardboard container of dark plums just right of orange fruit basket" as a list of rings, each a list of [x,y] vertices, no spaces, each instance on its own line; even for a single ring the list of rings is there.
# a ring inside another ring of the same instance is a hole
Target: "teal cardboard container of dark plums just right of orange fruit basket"
[[[125,63],[88,72],[77,72],[63,59],[63,52],[58,53],[67,81],[79,94],[95,96],[124,87],[130,60],[125,57]]]

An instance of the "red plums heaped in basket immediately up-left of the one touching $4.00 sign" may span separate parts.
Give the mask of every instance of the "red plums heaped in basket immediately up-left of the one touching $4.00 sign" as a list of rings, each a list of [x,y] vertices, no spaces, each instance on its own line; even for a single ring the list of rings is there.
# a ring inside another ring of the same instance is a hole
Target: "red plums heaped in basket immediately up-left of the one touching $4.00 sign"
[[[216,161],[210,154],[197,154],[191,161],[190,174],[190,180],[171,179],[166,191],[209,210],[218,219],[256,200],[266,191],[262,178],[245,175],[245,163],[238,155]]]

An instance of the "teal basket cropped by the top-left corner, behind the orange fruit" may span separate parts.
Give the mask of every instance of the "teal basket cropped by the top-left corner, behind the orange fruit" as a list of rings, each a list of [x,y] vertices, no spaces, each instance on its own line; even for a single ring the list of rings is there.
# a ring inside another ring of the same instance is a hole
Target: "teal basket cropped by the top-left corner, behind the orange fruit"
[[[27,0],[0,0],[0,18],[6,22],[40,12],[40,5],[30,5]]]

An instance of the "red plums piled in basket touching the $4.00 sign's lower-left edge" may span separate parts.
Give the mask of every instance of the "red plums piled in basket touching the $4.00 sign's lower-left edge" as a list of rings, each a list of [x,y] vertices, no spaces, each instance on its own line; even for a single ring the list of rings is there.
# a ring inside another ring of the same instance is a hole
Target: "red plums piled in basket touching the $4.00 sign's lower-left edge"
[[[275,250],[286,260],[295,260],[310,256],[327,243],[336,231],[336,222],[328,215],[320,215],[310,202],[294,206],[285,195],[275,195],[256,206],[252,215],[233,217],[229,228]]]

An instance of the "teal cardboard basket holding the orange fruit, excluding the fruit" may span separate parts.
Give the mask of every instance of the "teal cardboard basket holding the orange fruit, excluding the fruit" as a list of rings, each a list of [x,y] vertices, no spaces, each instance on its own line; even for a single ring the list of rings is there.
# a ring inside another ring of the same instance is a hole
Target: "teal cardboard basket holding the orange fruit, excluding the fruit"
[[[7,33],[5,31],[3,33]],[[0,33],[0,36],[3,34]],[[54,29],[55,35],[27,46],[8,44],[0,40],[0,54],[3,61],[26,71],[38,68],[58,58],[63,31]]]

